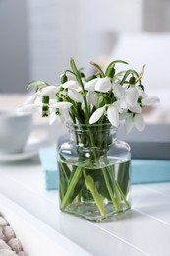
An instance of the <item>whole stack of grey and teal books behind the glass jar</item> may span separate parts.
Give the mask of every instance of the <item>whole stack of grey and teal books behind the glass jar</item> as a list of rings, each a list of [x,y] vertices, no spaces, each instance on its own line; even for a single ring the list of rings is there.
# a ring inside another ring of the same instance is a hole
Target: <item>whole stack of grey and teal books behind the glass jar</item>
[[[131,146],[133,184],[170,181],[170,124],[150,124],[143,133],[134,130],[129,135],[121,126],[119,138]],[[42,148],[39,157],[45,174],[45,188],[58,189],[56,150]]]

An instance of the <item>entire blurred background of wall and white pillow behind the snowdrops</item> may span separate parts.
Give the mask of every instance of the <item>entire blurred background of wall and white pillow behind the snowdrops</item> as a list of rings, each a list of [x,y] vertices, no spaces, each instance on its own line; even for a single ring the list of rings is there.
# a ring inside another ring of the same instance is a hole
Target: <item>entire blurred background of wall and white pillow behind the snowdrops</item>
[[[0,94],[59,82],[71,56],[86,73],[91,60],[119,58],[137,71],[146,64],[144,84],[169,121],[169,14],[169,0],[0,0]]]

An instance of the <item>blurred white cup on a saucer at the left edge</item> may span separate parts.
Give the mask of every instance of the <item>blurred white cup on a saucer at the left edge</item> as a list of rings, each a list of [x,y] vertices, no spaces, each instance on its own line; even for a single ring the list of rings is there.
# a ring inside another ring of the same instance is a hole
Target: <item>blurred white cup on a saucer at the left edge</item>
[[[0,154],[23,152],[31,128],[31,114],[0,110]]]

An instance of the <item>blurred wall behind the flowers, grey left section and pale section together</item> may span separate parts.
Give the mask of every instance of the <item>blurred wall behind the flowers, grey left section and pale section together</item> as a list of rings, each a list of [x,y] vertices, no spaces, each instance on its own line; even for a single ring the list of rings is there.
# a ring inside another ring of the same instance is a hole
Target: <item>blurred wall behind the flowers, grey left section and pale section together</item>
[[[107,54],[115,32],[142,29],[142,0],[0,1],[0,92],[26,92],[69,67]]]

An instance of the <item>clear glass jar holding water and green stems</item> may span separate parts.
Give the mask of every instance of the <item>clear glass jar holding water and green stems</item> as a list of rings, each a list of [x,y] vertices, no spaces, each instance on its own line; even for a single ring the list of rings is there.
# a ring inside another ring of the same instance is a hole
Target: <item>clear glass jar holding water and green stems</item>
[[[110,124],[68,124],[58,149],[60,209],[101,221],[131,208],[130,146]]]

